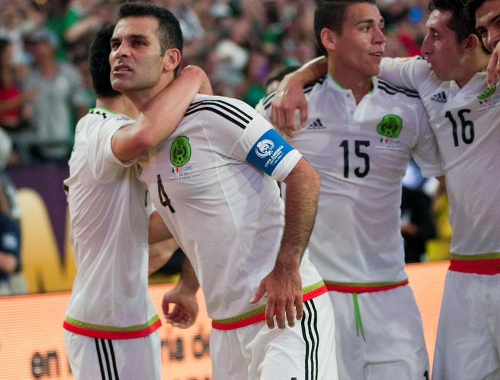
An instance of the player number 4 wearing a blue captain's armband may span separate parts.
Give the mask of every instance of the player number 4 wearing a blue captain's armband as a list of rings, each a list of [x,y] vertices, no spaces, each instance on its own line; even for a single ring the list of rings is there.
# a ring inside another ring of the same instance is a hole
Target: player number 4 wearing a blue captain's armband
[[[125,3],[111,46],[113,88],[140,110],[173,79],[182,34],[166,9]],[[245,103],[200,95],[140,165],[213,319],[212,377],[337,378],[333,310],[304,252],[319,176],[301,154]]]

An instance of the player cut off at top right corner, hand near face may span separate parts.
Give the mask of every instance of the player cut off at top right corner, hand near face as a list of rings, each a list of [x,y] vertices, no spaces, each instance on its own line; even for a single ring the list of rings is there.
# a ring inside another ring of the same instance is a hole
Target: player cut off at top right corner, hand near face
[[[491,51],[491,61],[488,64],[488,87],[494,85],[494,80],[500,81],[500,1],[499,0],[469,0],[465,4],[469,18],[476,23],[476,30],[482,38],[484,46]]]

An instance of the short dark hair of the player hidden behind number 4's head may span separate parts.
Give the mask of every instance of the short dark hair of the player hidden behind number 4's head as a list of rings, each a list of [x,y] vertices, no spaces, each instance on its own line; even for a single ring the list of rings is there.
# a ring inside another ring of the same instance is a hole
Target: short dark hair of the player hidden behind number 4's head
[[[111,53],[110,40],[113,36],[114,25],[106,25],[95,35],[88,51],[88,62],[92,86],[96,96],[115,97],[121,95],[111,86],[111,65],[109,54]]]

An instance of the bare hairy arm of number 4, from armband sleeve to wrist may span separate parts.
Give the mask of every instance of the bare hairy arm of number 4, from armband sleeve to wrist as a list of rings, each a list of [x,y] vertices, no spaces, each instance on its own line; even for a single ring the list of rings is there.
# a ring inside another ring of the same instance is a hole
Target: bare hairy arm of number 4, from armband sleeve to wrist
[[[276,266],[298,267],[316,218],[320,177],[302,158],[284,182],[285,227]]]

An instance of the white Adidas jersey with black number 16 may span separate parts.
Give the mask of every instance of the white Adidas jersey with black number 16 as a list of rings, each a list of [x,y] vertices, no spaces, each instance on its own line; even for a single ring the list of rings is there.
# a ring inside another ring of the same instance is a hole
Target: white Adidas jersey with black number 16
[[[451,252],[500,252],[500,93],[486,73],[463,88],[441,81],[422,58],[383,59],[381,76],[417,90],[436,135],[449,197]]]

